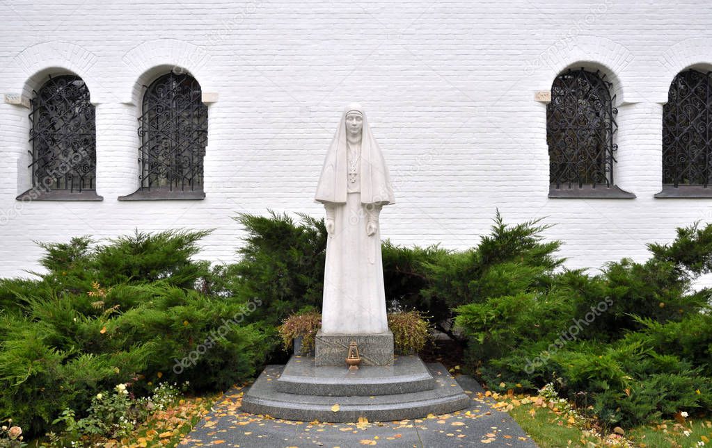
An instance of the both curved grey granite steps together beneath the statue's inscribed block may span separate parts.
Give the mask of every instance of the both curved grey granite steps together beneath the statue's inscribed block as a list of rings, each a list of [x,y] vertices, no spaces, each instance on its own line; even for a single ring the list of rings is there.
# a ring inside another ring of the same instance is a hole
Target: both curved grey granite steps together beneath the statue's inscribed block
[[[345,357],[344,357],[345,358]],[[390,366],[316,366],[292,356],[267,366],[242,399],[242,411],[303,422],[386,422],[463,410],[470,399],[440,363],[396,356]]]

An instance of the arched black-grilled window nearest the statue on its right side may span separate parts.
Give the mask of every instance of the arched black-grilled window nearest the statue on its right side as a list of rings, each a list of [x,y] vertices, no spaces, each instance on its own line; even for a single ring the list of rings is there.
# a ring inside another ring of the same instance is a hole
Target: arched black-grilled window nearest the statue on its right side
[[[604,77],[569,69],[551,86],[546,110],[550,197],[634,197],[614,183],[617,110]]]

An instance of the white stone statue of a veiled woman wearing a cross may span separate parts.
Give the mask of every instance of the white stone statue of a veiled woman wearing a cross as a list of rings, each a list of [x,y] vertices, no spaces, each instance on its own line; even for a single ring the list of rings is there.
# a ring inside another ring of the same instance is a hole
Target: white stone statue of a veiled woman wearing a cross
[[[360,105],[344,110],[315,200],[326,209],[322,334],[388,331],[379,213],[394,203],[381,149]]]

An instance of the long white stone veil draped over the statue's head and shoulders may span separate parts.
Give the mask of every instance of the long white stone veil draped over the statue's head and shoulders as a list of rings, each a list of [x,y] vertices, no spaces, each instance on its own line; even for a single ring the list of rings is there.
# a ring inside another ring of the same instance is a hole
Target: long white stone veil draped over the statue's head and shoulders
[[[346,114],[353,110],[361,112],[363,116],[360,172],[361,203],[381,206],[395,203],[393,188],[391,187],[383,154],[381,154],[381,149],[373,138],[373,134],[371,134],[371,127],[368,125],[368,119],[363,108],[357,104],[346,107],[341,116],[341,122],[329,146],[324,167],[321,170],[315,201],[320,203],[346,202]]]

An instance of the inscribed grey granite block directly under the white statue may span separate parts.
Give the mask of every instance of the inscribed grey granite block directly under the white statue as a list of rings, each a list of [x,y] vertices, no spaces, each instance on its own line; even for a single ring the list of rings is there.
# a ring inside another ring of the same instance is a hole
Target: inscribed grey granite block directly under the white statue
[[[361,356],[361,366],[392,366],[393,334],[323,334],[315,337],[315,365],[344,366],[349,344],[355,342]]]

